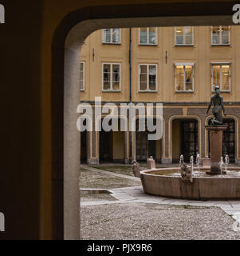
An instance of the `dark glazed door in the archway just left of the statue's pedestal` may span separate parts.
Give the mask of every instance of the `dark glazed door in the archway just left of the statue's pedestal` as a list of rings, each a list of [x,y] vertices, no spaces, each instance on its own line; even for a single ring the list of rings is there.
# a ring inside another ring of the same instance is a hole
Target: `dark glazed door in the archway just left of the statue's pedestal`
[[[181,154],[183,154],[186,162],[190,161],[191,156],[197,157],[199,151],[198,133],[197,121],[181,122]]]

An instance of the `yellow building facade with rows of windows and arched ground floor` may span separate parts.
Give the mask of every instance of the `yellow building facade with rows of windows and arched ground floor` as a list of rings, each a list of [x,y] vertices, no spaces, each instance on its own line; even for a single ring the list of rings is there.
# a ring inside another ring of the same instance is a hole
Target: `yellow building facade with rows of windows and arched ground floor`
[[[228,130],[222,155],[238,162],[240,118],[240,28],[179,26],[98,30],[81,49],[81,102],[163,103],[163,138],[148,132],[90,132],[81,135],[81,160],[178,162],[180,154],[209,157],[205,126],[214,86],[220,86]],[[120,113],[120,111],[119,111]],[[104,115],[102,116],[104,118]],[[121,118],[120,115],[118,118]],[[126,120],[128,122],[129,120]]]

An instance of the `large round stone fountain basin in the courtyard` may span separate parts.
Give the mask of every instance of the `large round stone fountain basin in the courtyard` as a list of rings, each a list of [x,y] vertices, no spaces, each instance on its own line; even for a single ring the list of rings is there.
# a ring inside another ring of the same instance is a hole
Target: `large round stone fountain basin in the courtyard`
[[[210,168],[203,167],[200,168],[200,170],[207,172],[210,171]],[[240,171],[240,168],[228,167],[228,170],[229,172],[236,172]],[[167,198],[240,200],[240,173],[239,176],[231,176],[230,174],[227,174],[223,177],[198,177],[194,175],[193,183],[184,182],[180,175],[177,177],[167,174],[178,172],[179,168],[141,171],[140,174],[144,192]]]

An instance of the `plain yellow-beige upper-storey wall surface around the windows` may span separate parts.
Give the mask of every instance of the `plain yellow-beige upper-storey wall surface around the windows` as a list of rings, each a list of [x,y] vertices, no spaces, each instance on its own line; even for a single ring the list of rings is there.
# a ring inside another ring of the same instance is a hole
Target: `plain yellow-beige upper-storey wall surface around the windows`
[[[231,90],[222,93],[226,102],[240,100],[237,81],[240,73],[240,27],[231,26],[230,46],[210,46],[210,26],[195,26],[194,46],[175,46],[175,28],[157,29],[157,46],[139,46],[139,29],[132,29],[132,100],[136,102],[208,102],[211,92],[211,62],[231,63]],[[92,59],[94,49],[95,60]],[[167,52],[167,64],[166,64]],[[102,30],[91,34],[81,50],[86,62],[85,92],[81,100],[92,101],[101,96],[104,101],[129,101],[129,29],[121,30],[120,45],[102,44]],[[102,92],[102,62],[121,63],[121,92]],[[175,62],[195,63],[194,93],[175,92]],[[139,92],[139,64],[158,65],[158,91]],[[90,90],[91,88],[91,90]]]

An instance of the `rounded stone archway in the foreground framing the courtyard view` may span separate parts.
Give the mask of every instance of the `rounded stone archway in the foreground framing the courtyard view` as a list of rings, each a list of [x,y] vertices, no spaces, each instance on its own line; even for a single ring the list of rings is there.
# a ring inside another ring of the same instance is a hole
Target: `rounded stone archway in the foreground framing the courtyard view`
[[[107,27],[230,25],[230,2],[94,6],[69,14],[52,46],[52,230],[53,239],[80,236],[80,134],[77,131],[77,63],[81,45]]]

